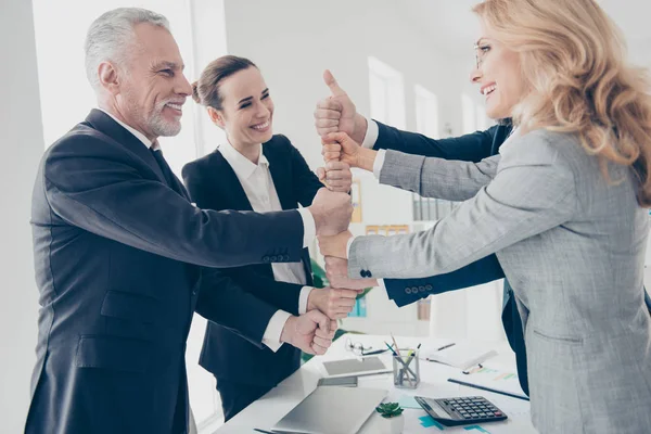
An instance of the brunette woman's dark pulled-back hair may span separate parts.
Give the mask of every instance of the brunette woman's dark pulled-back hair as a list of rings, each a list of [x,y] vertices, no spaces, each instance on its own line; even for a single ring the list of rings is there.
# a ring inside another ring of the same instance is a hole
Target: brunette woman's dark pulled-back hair
[[[248,59],[237,55],[222,55],[214,60],[201,73],[199,80],[192,84],[192,99],[197,104],[221,110],[224,98],[219,93],[219,82],[251,66],[257,68]]]

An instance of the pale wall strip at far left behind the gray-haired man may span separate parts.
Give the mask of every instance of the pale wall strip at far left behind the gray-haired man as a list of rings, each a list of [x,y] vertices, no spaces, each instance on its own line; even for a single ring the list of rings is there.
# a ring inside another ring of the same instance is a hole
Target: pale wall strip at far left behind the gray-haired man
[[[36,361],[38,296],[34,280],[31,187],[43,151],[31,2],[3,0],[0,186],[0,432],[20,433]]]

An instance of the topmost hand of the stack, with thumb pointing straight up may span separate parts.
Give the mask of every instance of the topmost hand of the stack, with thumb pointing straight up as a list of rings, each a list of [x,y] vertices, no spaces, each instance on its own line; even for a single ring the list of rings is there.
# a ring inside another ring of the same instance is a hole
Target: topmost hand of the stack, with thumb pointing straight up
[[[330,88],[331,97],[317,103],[315,126],[319,136],[328,132],[344,131],[361,143],[367,131],[367,119],[357,113],[355,104],[342,89],[332,73],[323,72],[323,81]]]

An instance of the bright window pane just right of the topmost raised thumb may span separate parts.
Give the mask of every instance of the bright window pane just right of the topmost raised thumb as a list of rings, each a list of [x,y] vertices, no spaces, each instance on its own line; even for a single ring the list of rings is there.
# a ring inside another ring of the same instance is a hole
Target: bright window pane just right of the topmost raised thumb
[[[386,63],[369,56],[371,117],[396,128],[405,128],[405,90],[403,74]]]

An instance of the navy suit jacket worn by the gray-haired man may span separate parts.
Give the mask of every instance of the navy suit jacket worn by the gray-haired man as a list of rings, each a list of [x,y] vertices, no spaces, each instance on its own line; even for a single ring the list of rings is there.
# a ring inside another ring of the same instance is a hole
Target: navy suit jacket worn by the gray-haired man
[[[192,206],[169,166],[98,110],[46,152],[31,225],[41,308],[26,433],[186,432],[199,266],[304,254],[297,212]],[[276,307],[238,288],[212,295],[197,310],[261,346],[248,317]]]

